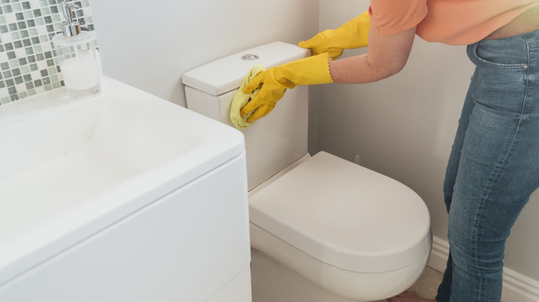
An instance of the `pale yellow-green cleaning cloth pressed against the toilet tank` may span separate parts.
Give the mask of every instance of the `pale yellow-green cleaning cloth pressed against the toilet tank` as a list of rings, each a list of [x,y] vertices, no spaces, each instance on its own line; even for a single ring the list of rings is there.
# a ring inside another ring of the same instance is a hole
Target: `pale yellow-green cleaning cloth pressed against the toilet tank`
[[[247,72],[245,77],[243,78],[243,81],[241,82],[240,89],[236,91],[236,94],[234,94],[234,97],[232,98],[232,103],[230,105],[230,121],[236,126],[236,128],[242,130],[247,127],[249,127],[252,123],[247,122],[247,117],[249,117],[252,112],[249,112],[249,114],[245,114],[243,117],[240,115],[240,109],[247,104],[260,90],[260,88],[257,88],[251,93],[243,93],[243,88],[249,83],[254,77],[256,77],[256,74],[259,74],[260,72],[263,72],[265,70],[264,66],[262,64],[256,64]],[[253,122],[254,123],[254,122]]]

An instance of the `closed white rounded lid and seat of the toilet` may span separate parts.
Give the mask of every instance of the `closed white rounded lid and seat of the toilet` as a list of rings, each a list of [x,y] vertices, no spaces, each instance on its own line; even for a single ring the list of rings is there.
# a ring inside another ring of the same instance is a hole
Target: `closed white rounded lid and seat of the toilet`
[[[249,197],[249,216],[310,256],[356,272],[403,268],[432,243],[419,195],[325,152]]]

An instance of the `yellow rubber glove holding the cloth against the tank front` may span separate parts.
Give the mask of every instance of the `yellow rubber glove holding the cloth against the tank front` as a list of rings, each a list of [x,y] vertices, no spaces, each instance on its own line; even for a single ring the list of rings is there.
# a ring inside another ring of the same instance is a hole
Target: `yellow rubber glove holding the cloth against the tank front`
[[[329,60],[329,54],[324,53],[285,63],[259,73],[245,86],[243,92],[251,93],[262,85],[261,90],[241,108],[240,115],[244,116],[253,112],[247,119],[247,122],[252,123],[272,111],[287,88],[291,89],[296,85],[332,83]]]

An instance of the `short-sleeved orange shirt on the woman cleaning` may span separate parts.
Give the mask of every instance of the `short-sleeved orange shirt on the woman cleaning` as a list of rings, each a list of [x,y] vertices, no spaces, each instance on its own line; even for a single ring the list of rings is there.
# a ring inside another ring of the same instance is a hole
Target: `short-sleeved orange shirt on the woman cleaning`
[[[426,41],[467,45],[480,41],[538,0],[371,0],[370,22],[379,34],[417,26]]]

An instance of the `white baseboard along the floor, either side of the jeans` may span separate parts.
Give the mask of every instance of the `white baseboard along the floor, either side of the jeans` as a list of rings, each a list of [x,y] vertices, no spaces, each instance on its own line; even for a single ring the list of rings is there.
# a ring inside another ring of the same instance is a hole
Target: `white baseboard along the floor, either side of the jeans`
[[[433,238],[433,250],[428,266],[439,271],[446,270],[449,256],[449,243],[437,237]],[[504,268],[504,285],[502,301],[504,302],[538,302],[539,281]]]

